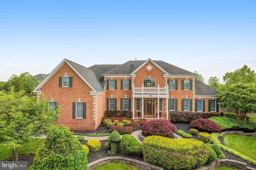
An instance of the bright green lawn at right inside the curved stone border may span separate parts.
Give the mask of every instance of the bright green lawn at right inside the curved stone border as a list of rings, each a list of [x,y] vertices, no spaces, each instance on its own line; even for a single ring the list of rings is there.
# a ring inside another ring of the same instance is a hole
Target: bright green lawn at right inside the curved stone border
[[[256,137],[229,134],[222,138],[224,145],[228,148],[256,160]]]

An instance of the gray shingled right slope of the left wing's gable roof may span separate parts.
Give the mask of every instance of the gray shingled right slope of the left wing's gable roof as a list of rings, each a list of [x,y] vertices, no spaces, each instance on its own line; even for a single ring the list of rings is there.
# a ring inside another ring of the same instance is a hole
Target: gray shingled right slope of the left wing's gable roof
[[[102,88],[102,85],[100,84],[98,78],[96,77],[93,70],[90,70],[84,66],[81,66],[79,64],[76,64],[70,60],[67,60],[67,62],[74,67],[74,69],[97,91],[102,92],[104,89]]]

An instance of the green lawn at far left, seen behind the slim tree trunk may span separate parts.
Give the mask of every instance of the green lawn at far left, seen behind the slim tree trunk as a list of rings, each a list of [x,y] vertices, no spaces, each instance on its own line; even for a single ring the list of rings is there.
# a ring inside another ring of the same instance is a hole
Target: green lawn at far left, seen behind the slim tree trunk
[[[44,141],[45,139],[35,138],[35,140],[32,140],[31,142],[24,144],[22,148],[19,148],[18,154],[36,154],[36,151],[38,150],[39,146],[43,144]],[[7,158],[10,157],[12,157],[12,151],[8,150],[6,147],[1,147],[0,161],[6,160]]]

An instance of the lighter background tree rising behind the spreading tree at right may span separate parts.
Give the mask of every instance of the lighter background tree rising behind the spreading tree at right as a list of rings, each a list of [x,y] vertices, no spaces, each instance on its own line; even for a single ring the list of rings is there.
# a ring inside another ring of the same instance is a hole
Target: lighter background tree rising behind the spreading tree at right
[[[250,67],[244,65],[234,72],[226,72],[223,76],[223,81],[225,84],[256,83],[256,73]]]

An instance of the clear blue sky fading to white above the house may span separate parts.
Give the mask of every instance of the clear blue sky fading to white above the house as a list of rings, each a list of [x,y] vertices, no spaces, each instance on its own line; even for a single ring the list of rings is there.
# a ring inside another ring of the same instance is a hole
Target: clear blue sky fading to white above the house
[[[162,60],[207,82],[256,70],[256,0],[0,0],[0,81],[82,66]]]

